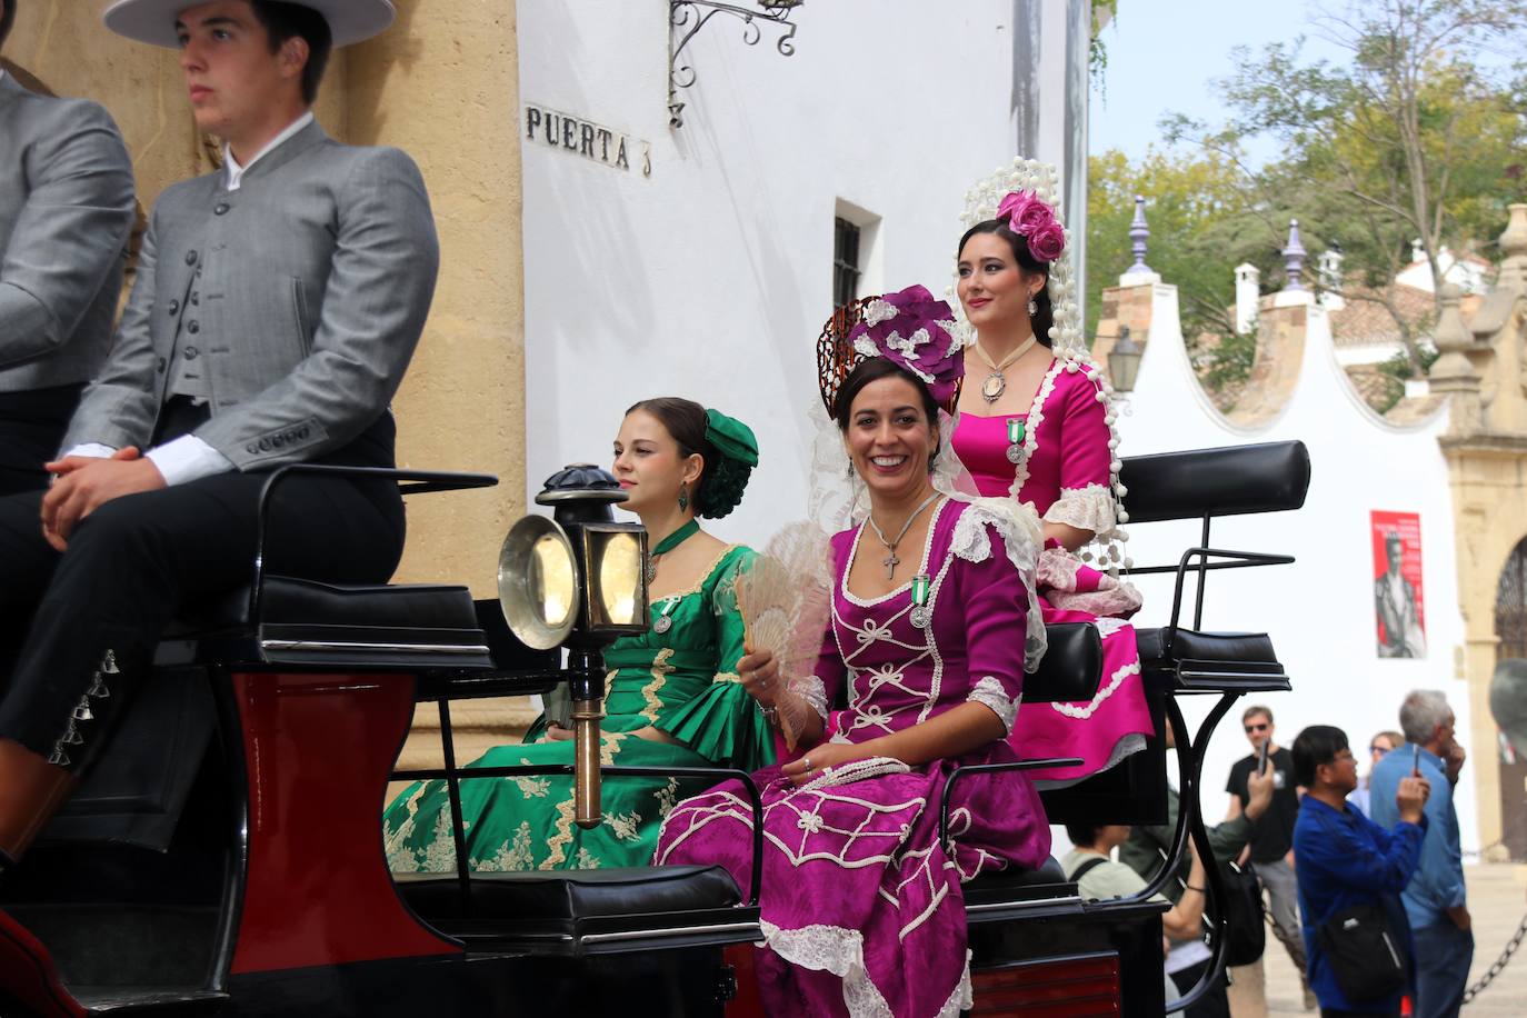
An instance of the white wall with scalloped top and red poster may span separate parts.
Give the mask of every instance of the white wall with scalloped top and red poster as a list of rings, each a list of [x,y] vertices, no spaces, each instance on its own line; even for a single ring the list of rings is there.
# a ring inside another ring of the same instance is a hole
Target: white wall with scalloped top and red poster
[[[1306,725],[1342,728],[1367,771],[1368,739],[1399,728],[1399,704],[1412,688],[1438,688],[1457,713],[1460,737],[1469,731],[1466,684],[1455,678],[1455,649],[1463,644],[1458,614],[1454,513],[1448,467],[1437,437],[1446,415],[1417,427],[1394,427],[1371,414],[1342,377],[1325,313],[1310,308],[1299,383],[1281,415],[1260,430],[1229,424],[1209,404],[1188,366],[1177,317],[1177,292],[1153,287],[1153,316],[1139,379],[1121,418],[1125,456],[1243,443],[1301,440],[1310,450],[1312,479],[1304,508],[1295,513],[1228,517],[1214,525],[1217,548],[1274,551],[1298,557],[1295,565],[1209,575],[1203,627],[1266,630],[1293,691],[1267,697],[1277,716],[1278,745],[1292,745]],[[1374,650],[1373,545],[1370,510],[1419,513],[1428,656],[1379,659]],[[1130,528],[1136,565],[1176,562],[1199,543],[1197,523],[1150,523]],[[1171,586],[1159,577],[1139,580],[1145,609],[1139,621],[1167,621]],[[1191,591],[1191,585],[1188,588]],[[1185,623],[1191,624],[1191,597]],[[1196,723],[1211,701],[1190,704]],[[1223,815],[1231,763],[1248,752],[1237,705],[1217,730],[1205,765],[1205,815]],[[1469,746],[1480,757],[1493,746]],[[1471,771],[1457,789],[1464,849],[1478,849]]]

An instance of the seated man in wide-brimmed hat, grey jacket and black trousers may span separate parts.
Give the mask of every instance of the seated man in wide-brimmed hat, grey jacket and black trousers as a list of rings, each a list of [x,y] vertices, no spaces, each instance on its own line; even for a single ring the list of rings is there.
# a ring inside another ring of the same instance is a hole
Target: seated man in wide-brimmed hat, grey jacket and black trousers
[[[438,244],[397,150],[331,140],[310,107],[331,44],[388,0],[116,0],[107,27],[176,46],[224,168],[165,191],[110,360],[49,464],[0,499],[0,867],[14,865],[121,717],[182,604],[249,575],[270,469],[394,464],[397,392]],[[383,583],[402,556],[389,481],[293,478],[266,563]]]

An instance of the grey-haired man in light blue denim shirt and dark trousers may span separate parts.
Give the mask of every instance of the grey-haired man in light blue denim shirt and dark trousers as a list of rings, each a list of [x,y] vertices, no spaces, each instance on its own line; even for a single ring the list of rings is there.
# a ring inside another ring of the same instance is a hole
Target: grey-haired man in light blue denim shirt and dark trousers
[[[1452,720],[1452,708],[1441,693],[1416,690],[1406,696],[1400,705],[1405,743],[1379,760],[1370,781],[1370,815],[1382,826],[1396,821],[1394,792],[1412,766],[1432,789],[1426,800],[1422,868],[1405,888],[1405,913],[1416,934],[1416,1018],[1455,1018],[1474,962],[1458,812],[1452,804],[1452,786],[1458,781],[1464,752],[1454,739]]]

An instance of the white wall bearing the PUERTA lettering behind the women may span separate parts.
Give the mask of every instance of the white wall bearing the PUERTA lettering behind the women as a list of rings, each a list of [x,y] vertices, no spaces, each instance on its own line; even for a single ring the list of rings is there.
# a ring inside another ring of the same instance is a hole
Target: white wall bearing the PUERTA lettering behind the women
[[[762,542],[803,516],[815,337],[840,201],[883,217],[866,292],[942,295],[965,189],[1012,159],[1012,0],[808,3],[796,55],[718,15],[669,128],[667,5],[521,0],[521,96],[652,143],[652,176],[521,137],[528,484],[606,462],[621,411],[686,395],[759,435],[741,508]],[[1055,29],[1064,24],[1055,20]],[[490,157],[490,154],[486,154]]]

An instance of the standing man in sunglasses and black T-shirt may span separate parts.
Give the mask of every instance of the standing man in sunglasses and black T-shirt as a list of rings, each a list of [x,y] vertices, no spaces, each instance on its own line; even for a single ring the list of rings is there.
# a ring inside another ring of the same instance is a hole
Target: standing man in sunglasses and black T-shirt
[[[1299,933],[1299,888],[1293,876],[1293,824],[1299,818],[1298,781],[1293,780],[1293,755],[1274,742],[1272,710],[1255,705],[1241,714],[1241,728],[1251,754],[1231,768],[1225,791],[1231,794],[1231,810],[1226,820],[1240,817],[1251,792],[1246,786],[1251,772],[1258,769],[1266,743],[1267,771],[1272,774],[1272,806],[1252,830],[1248,855],[1257,879],[1267,890],[1267,913],[1278,928],[1278,940],[1289,951],[1293,965],[1304,972],[1304,951]],[[1241,859],[1246,861],[1246,856]],[[1303,978],[1303,977],[1301,977]],[[1315,1006],[1309,986],[1304,987],[1304,1003]]]

